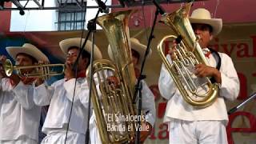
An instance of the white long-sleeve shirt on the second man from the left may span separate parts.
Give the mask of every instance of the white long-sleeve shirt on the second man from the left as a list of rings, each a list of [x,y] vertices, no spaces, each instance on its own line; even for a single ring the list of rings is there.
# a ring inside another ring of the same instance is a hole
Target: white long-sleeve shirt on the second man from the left
[[[42,84],[34,89],[34,102],[38,106],[50,105],[42,131],[49,134],[52,130],[63,130],[70,117],[74,95],[75,79],[58,80],[51,86]],[[69,129],[78,134],[86,134],[88,117],[89,87],[85,78],[78,78],[74,95],[74,105]]]

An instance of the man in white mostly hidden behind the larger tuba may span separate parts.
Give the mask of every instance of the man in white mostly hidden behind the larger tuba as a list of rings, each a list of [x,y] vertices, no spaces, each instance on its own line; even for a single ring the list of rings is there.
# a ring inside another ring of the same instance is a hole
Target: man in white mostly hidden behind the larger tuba
[[[139,66],[142,65],[142,58],[146,52],[146,46],[143,45],[141,42],[138,41],[136,38],[130,38],[130,46],[132,51],[132,62],[134,64],[134,72],[136,78],[138,78],[140,70]],[[152,51],[150,50],[150,53],[148,54],[148,57],[150,57],[150,54]],[[108,47],[108,54],[110,56],[110,59],[113,61],[113,55],[112,50],[110,46]],[[111,75],[111,74],[110,74]],[[119,86],[119,80],[118,78],[114,76],[110,76],[107,78],[109,83],[112,83],[115,87]],[[148,129],[144,129],[141,131],[141,137],[140,137],[140,143],[144,142],[146,138],[151,134],[152,128],[154,126],[155,122],[155,103],[154,103],[154,95],[152,94],[149,87],[146,85],[146,82],[142,80],[142,111],[143,115],[146,117],[146,121],[142,122],[142,126],[148,127]],[[90,118],[90,140],[91,143],[102,143],[100,136],[98,134],[98,127],[96,124],[96,119],[94,118],[94,114]],[[142,128],[143,129],[143,128]]]

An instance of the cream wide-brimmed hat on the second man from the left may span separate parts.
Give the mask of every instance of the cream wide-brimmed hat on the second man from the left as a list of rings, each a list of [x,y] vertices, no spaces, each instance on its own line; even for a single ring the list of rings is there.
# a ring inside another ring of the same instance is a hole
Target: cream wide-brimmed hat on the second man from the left
[[[61,47],[64,54],[67,54],[67,50],[69,50],[70,47],[76,46],[81,47],[83,42],[85,42],[85,38],[67,38],[59,42],[59,46]],[[84,49],[90,54],[92,49],[92,42],[87,40],[86,46]],[[102,59],[102,53],[98,49],[98,46],[94,45],[94,59]]]

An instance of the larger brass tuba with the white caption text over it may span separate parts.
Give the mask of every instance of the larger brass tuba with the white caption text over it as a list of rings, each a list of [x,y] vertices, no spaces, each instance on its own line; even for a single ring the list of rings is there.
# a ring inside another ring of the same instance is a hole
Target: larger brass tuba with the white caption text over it
[[[111,46],[114,63],[106,59],[94,61],[92,73],[98,82],[93,81],[92,102],[102,143],[126,143],[134,140],[135,122],[120,118],[136,114],[132,102],[136,82],[131,57],[128,20],[134,10],[106,14],[97,19]],[[109,74],[112,73],[112,74]],[[106,81],[108,76],[119,79],[120,86],[114,87]],[[100,93],[96,90],[98,83]],[[108,126],[118,130],[108,130]],[[129,127],[133,127],[128,130]]]

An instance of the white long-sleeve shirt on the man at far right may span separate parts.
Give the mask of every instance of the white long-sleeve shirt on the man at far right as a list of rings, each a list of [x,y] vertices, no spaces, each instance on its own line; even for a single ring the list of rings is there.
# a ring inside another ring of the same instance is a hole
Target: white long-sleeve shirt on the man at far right
[[[170,122],[173,118],[186,121],[220,120],[225,123],[228,122],[224,100],[234,100],[238,97],[239,80],[231,58],[223,53],[218,54],[222,59],[219,70],[222,83],[219,86],[220,90],[216,102],[206,108],[195,108],[186,103],[166,67],[162,65],[158,86],[162,97],[168,100],[164,122]],[[170,55],[167,56],[167,59],[171,62]],[[217,55],[210,54],[210,57],[207,58],[210,66],[216,67],[218,63],[216,59]]]

